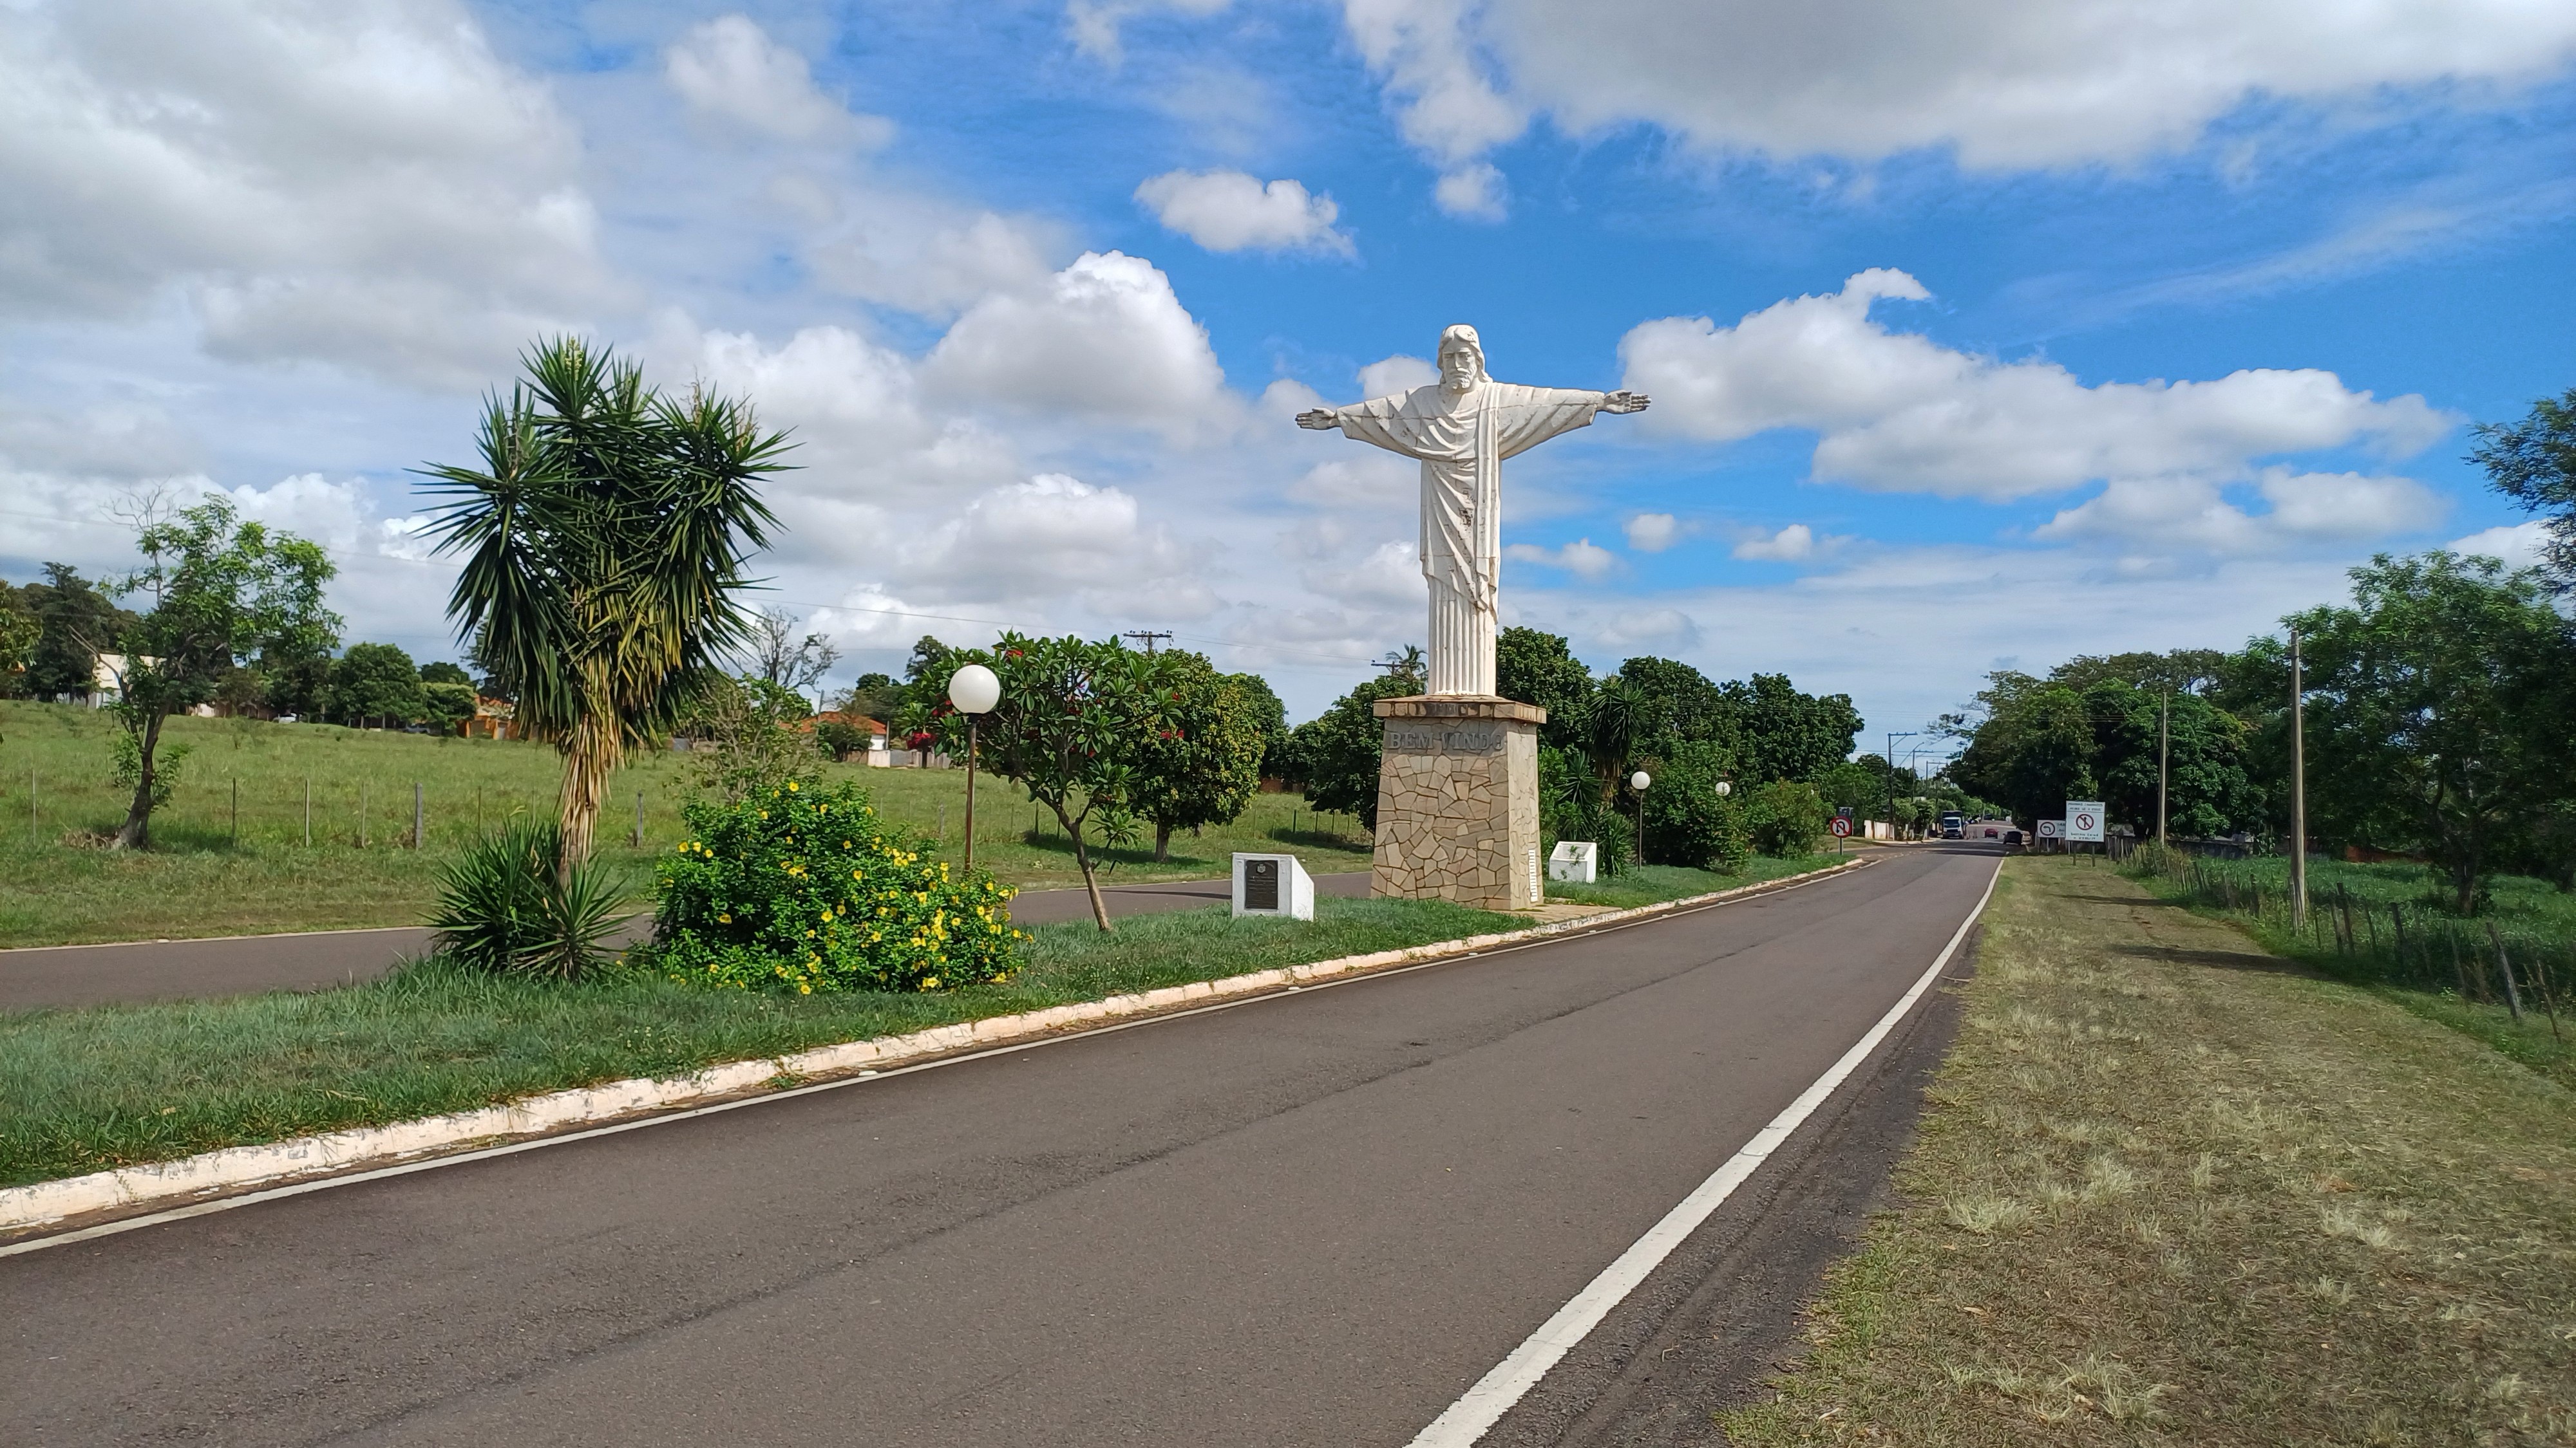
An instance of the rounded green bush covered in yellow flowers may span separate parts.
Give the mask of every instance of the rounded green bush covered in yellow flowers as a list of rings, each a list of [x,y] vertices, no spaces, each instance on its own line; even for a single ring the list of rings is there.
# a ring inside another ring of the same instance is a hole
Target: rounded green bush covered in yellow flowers
[[[683,814],[690,837],[657,868],[649,948],[672,979],[814,995],[945,989],[1020,966],[1012,889],[951,876],[855,783],[783,783]]]

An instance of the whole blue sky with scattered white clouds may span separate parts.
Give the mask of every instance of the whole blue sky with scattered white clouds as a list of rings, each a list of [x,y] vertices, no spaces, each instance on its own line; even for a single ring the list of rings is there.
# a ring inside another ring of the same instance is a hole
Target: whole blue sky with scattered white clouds
[[[773,600],[1172,629],[1306,716],[1422,634],[1412,477],[1288,417],[1638,386],[1507,466],[1504,613],[1919,727],[2530,528],[2576,13],[2174,0],[0,3],[0,575],[121,497],[453,652],[407,466],[580,330],[804,441]],[[1414,358],[1414,361],[1406,361]]]

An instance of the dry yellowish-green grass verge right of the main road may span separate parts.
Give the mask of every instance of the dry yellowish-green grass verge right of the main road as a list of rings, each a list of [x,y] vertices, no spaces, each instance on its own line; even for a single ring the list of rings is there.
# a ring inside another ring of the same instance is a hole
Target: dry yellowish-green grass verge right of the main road
[[[1785,1443],[2568,1443],[2576,1095],[2115,871],[2017,858]]]

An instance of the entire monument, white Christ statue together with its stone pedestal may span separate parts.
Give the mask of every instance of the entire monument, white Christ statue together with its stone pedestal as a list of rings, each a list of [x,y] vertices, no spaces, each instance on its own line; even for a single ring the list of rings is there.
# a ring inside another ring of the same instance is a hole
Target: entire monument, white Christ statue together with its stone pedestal
[[[1636,392],[1494,381],[1476,327],[1450,327],[1440,332],[1440,381],[1298,412],[1298,428],[1340,428],[1422,464],[1430,688],[1373,706],[1386,745],[1370,894],[1540,904],[1538,727],[1548,711],[1494,693],[1502,459],[1589,428],[1600,412],[1643,410]]]

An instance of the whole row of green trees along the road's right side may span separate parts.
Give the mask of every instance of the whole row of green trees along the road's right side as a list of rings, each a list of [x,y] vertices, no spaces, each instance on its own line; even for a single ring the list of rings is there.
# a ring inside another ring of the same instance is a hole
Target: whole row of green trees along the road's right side
[[[2576,392],[2478,438],[2470,461],[2545,520],[2540,567],[2380,554],[2352,569],[2349,605],[2293,613],[2236,652],[1986,675],[1940,721],[1965,742],[1950,778],[2025,819],[2102,799],[2143,835],[2166,714],[2169,832],[2282,837],[2295,634],[2308,848],[2424,858],[2455,912],[2499,871],[2576,889]]]

